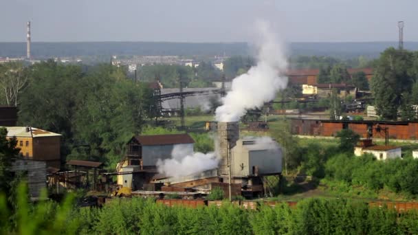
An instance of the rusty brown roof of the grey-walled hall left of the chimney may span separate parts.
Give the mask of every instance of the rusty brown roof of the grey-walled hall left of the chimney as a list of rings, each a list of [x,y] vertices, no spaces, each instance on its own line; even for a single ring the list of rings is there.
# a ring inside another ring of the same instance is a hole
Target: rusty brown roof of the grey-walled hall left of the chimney
[[[140,135],[136,136],[135,139],[137,139],[137,142],[144,146],[195,143],[195,140],[193,140],[188,134]]]

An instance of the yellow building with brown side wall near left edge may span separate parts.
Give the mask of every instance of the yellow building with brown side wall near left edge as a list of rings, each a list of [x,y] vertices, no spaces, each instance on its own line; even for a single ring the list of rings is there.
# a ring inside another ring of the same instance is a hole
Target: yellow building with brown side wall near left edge
[[[25,126],[6,126],[5,128],[8,130],[8,137],[16,137],[21,157],[45,161],[47,166],[60,168],[60,134]]]

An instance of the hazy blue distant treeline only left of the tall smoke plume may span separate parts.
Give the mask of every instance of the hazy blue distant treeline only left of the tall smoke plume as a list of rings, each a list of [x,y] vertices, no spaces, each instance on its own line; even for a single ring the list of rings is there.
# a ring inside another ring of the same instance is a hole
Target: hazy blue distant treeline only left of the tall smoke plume
[[[54,56],[228,56],[248,54],[247,43],[89,42],[32,43],[36,58]],[[0,56],[26,55],[26,43],[0,43]]]

